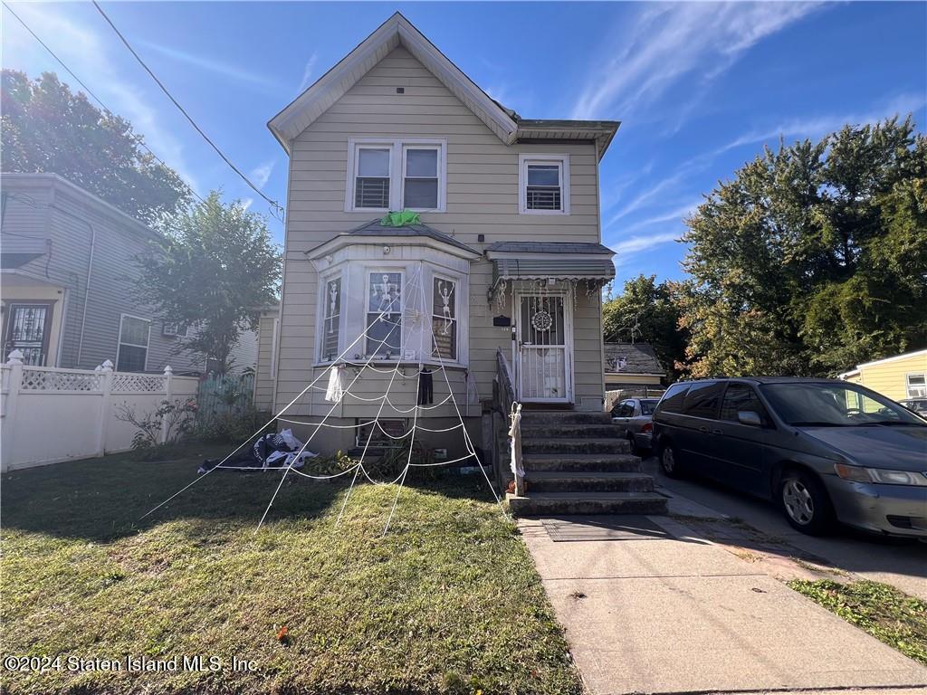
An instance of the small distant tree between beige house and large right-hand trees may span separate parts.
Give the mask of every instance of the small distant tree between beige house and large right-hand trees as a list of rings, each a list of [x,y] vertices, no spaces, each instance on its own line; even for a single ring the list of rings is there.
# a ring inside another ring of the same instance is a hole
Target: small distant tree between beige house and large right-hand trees
[[[650,343],[667,374],[675,377],[688,337],[678,329],[677,294],[676,284],[656,284],[655,275],[641,274],[627,281],[620,295],[603,304],[605,342]]]

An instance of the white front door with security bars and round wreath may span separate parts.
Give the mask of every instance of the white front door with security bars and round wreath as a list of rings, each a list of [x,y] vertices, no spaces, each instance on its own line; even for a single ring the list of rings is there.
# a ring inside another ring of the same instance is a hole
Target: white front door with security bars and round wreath
[[[519,294],[516,323],[518,399],[573,401],[573,316],[564,294]]]

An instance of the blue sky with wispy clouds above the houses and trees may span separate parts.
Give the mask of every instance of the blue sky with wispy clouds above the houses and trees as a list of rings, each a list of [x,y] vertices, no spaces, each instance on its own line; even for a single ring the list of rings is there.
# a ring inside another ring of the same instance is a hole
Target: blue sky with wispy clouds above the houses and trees
[[[267,206],[134,62],[90,4],[14,9],[202,195]],[[618,280],[679,278],[682,219],[764,144],[913,111],[927,123],[927,4],[106,3],[199,124],[268,196],[286,155],[266,122],[399,9],[527,118],[621,120],[602,164]],[[5,68],[54,60],[4,10]],[[62,79],[70,78],[62,74]],[[282,225],[273,219],[274,236]]]

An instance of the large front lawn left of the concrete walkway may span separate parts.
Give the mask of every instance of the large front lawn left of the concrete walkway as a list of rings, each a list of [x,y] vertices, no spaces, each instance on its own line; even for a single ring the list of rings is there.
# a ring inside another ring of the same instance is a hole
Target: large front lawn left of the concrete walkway
[[[533,562],[482,478],[410,474],[386,537],[395,486],[355,487],[336,528],[347,486],[297,476],[255,534],[273,473],[218,471],[139,521],[210,453],[4,476],[4,651],[63,666],[4,669],[3,692],[581,693]],[[223,667],[67,668],[127,655]],[[233,657],[258,670],[232,670]]]

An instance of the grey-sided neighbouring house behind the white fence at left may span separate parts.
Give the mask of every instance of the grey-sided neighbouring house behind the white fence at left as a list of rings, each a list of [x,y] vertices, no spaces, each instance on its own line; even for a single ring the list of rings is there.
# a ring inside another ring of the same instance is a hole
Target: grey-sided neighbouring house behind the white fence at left
[[[27,364],[119,372],[206,371],[174,354],[184,328],[161,322],[132,296],[134,257],[159,234],[54,173],[3,173],[0,305],[4,358]],[[236,363],[257,361],[257,335],[242,336]]]

